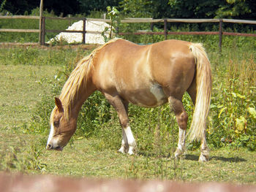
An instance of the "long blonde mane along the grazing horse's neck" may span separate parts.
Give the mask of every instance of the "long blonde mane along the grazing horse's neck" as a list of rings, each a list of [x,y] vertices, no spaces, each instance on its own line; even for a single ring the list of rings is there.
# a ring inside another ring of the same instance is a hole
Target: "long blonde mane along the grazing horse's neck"
[[[90,55],[82,58],[69,75],[67,82],[65,82],[64,87],[61,90],[61,95],[59,96],[64,108],[64,115],[67,120],[69,120],[74,101],[78,99],[78,92],[80,88],[86,88],[86,82],[88,81],[91,69],[94,69],[94,58],[96,57],[96,54],[103,47],[112,42],[116,42],[116,40],[118,40],[118,38],[111,39],[109,42],[93,50]],[[55,107],[53,112],[56,110],[57,108]]]

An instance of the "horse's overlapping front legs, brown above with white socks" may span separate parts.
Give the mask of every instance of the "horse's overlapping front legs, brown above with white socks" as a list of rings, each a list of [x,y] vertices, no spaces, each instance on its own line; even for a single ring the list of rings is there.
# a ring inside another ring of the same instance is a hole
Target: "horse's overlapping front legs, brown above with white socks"
[[[122,127],[123,139],[121,142],[121,147],[118,151],[133,155],[135,153],[136,142],[135,138],[133,137],[131,127],[129,126],[128,102],[121,99],[118,95],[112,96],[105,93],[105,97],[115,108]]]

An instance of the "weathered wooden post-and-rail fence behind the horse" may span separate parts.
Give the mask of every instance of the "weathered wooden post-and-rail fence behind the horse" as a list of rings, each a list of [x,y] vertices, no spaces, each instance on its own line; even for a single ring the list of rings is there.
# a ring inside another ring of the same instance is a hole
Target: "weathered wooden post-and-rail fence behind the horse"
[[[45,45],[45,34],[49,32],[66,32],[66,33],[81,33],[83,34],[83,44],[86,43],[86,34],[100,34],[97,31],[86,31],[86,20],[90,21],[103,21],[110,23],[108,19],[95,19],[95,18],[53,18],[53,17],[39,17],[39,16],[0,16],[0,19],[36,19],[40,20],[39,29],[14,29],[14,28],[0,28],[0,32],[26,32],[26,33],[39,33],[39,43],[40,45]],[[45,28],[45,20],[83,20],[83,30],[82,31],[68,31],[68,30],[53,30]],[[219,50],[222,49],[222,36],[244,36],[244,37],[256,37],[256,34],[242,34],[235,32],[225,32],[223,31],[223,23],[243,23],[256,25],[256,20],[233,20],[233,19],[152,19],[152,18],[125,18],[121,20],[121,23],[164,23],[163,32],[153,32],[153,31],[138,31],[138,32],[119,32],[119,35],[164,35],[167,39],[168,34],[173,35],[219,35]],[[219,23],[219,31],[168,31],[167,23]]]

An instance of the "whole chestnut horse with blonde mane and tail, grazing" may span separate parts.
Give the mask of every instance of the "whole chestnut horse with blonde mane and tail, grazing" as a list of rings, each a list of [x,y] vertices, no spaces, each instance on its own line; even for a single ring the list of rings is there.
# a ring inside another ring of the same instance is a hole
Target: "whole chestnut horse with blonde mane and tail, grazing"
[[[121,153],[135,153],[136,142],[128,119],[128,104],[157,107],[169,102],[178,123],[176,158],[184,152],[187,112],[182,96],[187,91],[195,104],[190,140],[201,140],[199,161],[208,161],[206,118],[211,101],[211,68],[202,45],[166,40],[136,45],[113,39],[80,60],[62,88],[50,115],[47,149],[62,150],[74,134],[84,101],[101,91],[120,120]]]

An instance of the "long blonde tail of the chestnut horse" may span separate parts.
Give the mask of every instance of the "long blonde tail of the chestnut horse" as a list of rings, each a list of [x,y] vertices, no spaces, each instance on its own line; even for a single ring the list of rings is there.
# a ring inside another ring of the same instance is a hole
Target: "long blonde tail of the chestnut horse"
[[[206,130],[206,118],[211,102],[211,66],[201,44],[189,46],[196,61],[196,84],[197,96],[195,111],[189,128],[189,141],[203,139]]]

